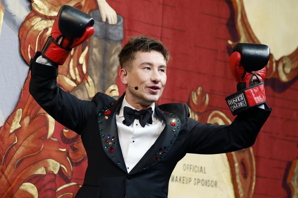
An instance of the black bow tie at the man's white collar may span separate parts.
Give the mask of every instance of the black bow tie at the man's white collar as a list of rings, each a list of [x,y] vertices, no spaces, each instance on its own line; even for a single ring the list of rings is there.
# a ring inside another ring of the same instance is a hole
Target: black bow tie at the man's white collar
[[[152,124],[152,108],[144,109],[144,110],[133,110],[132,108],[128,106],[124,106],[123,108],[123,115],[124,120],[123,124],[126,124],[126,126],[130,126],[134,119],[138,119],[141,126],[145,127],[146,123]]]

